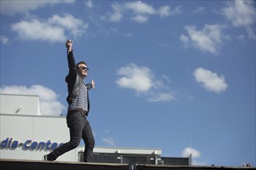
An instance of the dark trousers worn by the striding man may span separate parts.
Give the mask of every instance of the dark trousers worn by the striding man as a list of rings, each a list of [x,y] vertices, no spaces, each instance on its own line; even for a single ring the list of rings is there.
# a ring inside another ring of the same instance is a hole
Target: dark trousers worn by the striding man
[[[54,161],[67,151],[77,148],[82,138],[85,142],[84,161],[92,162],[92,151],[95,146],[95,139],[87,117],[79,110],[70,110],[67,113],[67,127],[70,131],[70,141],[50,152],[50,154],[47,155],[47,159]]]

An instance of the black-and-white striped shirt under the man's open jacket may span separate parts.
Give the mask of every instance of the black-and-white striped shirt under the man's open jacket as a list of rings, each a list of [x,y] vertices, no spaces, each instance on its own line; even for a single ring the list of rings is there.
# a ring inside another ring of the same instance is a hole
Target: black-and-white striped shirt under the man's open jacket
[[[69,105],[68,110],[82,109],[88,111],[88,97],[87,97],[87,87],[85,82],[81,85],[81,89],[78,92],[78,96]]]

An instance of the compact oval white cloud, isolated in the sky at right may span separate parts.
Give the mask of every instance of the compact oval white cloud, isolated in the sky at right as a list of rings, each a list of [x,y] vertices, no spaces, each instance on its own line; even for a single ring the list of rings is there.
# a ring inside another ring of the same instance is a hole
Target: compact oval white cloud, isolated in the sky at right
[[[216,73],[212,73],[210,70],[205,70],[201,67],[194,71],[195,80],[202,84],[202,87],[206,90],[221,93],[227,89],[227,83],[224,76],[218,76]]]

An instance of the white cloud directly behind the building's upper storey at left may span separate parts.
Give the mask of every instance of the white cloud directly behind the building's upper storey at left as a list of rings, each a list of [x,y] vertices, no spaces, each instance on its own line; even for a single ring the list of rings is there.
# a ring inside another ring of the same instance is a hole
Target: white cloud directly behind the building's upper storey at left
[[[25,86],[3,86],[1,93],[39,95],[41,114],[45,116],[60,116],[65,109],[64,105],[57,100],[58,95],[47,87],[41,85]]]

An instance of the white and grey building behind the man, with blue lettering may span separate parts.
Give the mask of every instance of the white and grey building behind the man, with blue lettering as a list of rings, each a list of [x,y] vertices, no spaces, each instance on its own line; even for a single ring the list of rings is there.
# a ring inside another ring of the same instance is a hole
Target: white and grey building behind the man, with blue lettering
[[[40,98],[34,95],[0,94],[0,158],[41,160],[54,148],[69,141],[66,117],[46,117]],[[81,162],[83,146],[57,160]],[[189,158],[161,157],[161,148],[95,147],[94,162],[148,165],[191,165]]]

